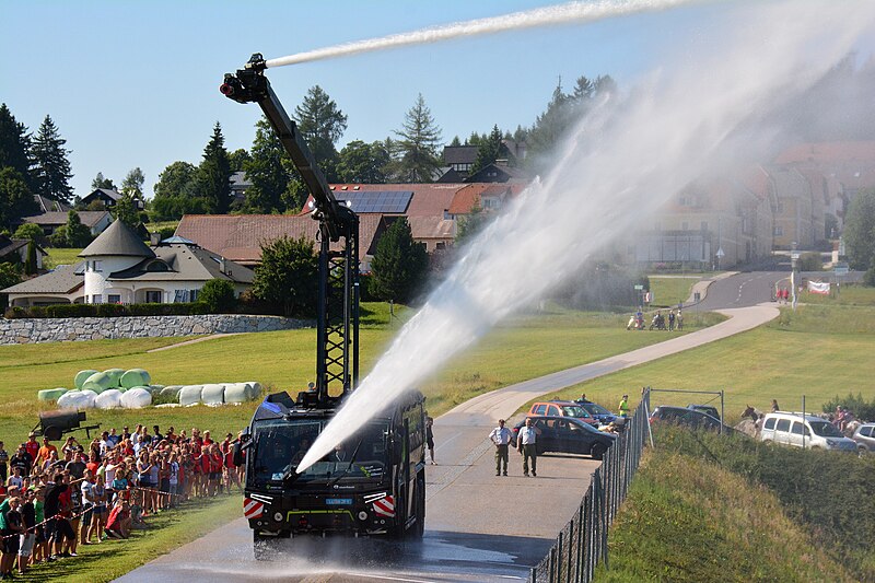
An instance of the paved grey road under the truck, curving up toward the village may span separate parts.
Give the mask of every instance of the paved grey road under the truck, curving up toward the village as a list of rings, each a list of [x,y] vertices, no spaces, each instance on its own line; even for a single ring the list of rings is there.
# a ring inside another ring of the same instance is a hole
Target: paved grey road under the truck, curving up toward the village
[[[238,518],[118,581],[526,580],[529,568],[546,555],[576,510],[598,462],[583,456],[542,456],[538,477],[524,478],[520,456],[512,453],[511,476],[495,477],[492,447],[486,439],[495,420],[510,418],[522,405],[546,393],[759,326],[778,315],[773,304],[756,305],[769,300],[768,285],[775,280],[768,273],[738,273],[715,281],[699,307],[724,302],[720,312],[731,317],[716,326],[503,387],[438,418],[439,465],[427,471],[422,541],[295,538],[282,557],[264,563],[253,559],[252,533]],[[736,307],[725,308],[727,305]],[[646,334],[668,337],[668,333]]]

